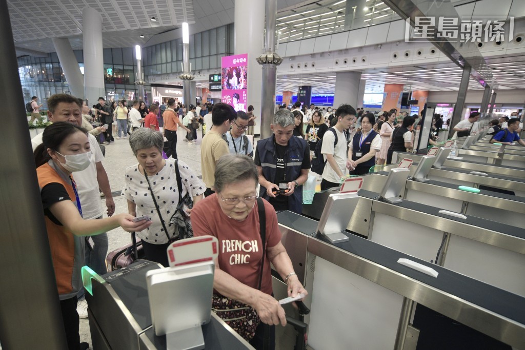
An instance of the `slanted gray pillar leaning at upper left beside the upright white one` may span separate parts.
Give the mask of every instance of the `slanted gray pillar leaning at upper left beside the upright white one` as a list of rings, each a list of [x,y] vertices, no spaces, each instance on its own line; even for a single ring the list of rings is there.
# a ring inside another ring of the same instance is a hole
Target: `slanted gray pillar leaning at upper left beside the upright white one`
[[[57,51],[58,60],[66,81],[69,85],[69,91],[77,98],[84,98],[84,78],[78,67],[77,57],[71,48],[68,38],[53,38],[53,45]]]

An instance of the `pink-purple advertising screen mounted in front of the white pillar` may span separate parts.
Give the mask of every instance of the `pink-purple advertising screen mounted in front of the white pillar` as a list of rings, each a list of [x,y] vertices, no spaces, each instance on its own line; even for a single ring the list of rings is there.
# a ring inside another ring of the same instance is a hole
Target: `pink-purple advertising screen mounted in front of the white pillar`
[[[221,60],[222,102],[236,111],[246,112],[248,87],[248,54],[225,56]]]

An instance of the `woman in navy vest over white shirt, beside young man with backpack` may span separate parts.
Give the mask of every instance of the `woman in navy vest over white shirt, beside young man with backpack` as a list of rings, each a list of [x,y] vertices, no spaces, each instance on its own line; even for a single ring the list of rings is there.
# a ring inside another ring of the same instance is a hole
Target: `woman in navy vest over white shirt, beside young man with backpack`
[[[381,136],[372,130],[374,124],[374,114],[363,114],[362,130],[355,133],[348,145],[346,167],[350,170],[350,175],[368,174],[370,168],[375,165],[375,154],[381,150]]]

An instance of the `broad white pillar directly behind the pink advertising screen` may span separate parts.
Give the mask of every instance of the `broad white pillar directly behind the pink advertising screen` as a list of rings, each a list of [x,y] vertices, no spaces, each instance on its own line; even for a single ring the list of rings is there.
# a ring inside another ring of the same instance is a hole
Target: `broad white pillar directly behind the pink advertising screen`
[[[248,54],[247,105],[254,106],[254,133],[260,134],[262,67],[255,60],[263,51],[265,2],[235,1],[235,55]]]

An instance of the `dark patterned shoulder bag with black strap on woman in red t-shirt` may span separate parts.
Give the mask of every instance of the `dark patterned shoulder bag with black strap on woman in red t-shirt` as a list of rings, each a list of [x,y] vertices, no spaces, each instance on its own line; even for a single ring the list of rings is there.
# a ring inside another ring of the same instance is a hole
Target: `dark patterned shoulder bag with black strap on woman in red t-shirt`
[[[262,259],[258,287],[260,290],[262,285],[262,271],[266,257],[266,213],[261,198],[257,198],[257,207],[262,241]],[[224,295],[213,294],[212,311],[232,327],[241,337],[245,338],[246,341],[249,342],[255,336],[255,330],[260,323],[260,318],[253,307],[237,300],[227,298]]]

